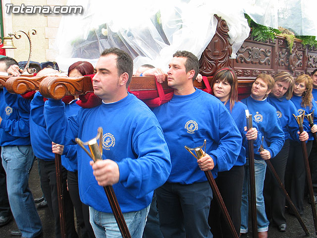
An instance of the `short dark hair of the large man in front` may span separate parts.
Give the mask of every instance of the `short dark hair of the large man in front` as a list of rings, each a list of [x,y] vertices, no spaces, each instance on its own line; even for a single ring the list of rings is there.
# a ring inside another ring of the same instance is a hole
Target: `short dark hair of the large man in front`
[[[133,60],[132,58],[128,55],[128,53],[119,50],[118,48],[109,48],[104,50],[103,53],[101,53],[101,57],[102,56],[107,56],[107,55],[115,55],[117,56],[117,68],[118,68],[118,75],[121,75],[122,73],[128,73],[129,78],[127,81],[126,86],[128,87],[130,82],[131,82],[131,78],[132,78],[132,74],[133,74]]]

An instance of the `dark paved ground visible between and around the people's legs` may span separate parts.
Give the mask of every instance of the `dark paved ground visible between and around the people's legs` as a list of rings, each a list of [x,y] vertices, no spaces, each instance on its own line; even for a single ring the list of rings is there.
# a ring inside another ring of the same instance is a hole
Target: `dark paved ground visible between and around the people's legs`
[[[35,162],[33,166],[33,170],[30,175],[29,184],[30,184],[30,188],[33,192],[34,197],[42,196],[37,162]],[[43,230],[44,230],[43,238],[54,238],[54,224],[53,224],[53,219],[49,209],[48,208],[39,209],[38,212],[43,224]],[[270,226],[268,231],[269,238],[304,238],[306,237],[296,217],[288,215],[287,213],[286,219],[287,219],[286,232],[285,233],[278,232],[276,227]],[[310,204],[307,201],[305,201],[305,212],[303,215],[303,220],[308,230],[311,232],[311,234],[315,234],[312,210],[311,210]],[[251,224],[249,225],[249,227],[251,227]],[[10,232],[16,229],[17,229],[17,226],[14,221],[10,222],[8,225],[4,227],[1,227],[0,238],[14,238],[13,236],[10,235]],[[317,238],[317,235],[310,235],[308,237]],[[247,235],[242,236],[242,238],[252,238],[252,234],[249,233]]]

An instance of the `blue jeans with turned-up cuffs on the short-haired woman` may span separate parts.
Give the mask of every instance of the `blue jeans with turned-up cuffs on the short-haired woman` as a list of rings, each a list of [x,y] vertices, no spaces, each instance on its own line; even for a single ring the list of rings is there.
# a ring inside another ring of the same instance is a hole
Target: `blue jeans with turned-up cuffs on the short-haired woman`
[[[249,176],[249,160],[244,166],[244,181],[242,190],[242,204],[241,204],[241,229],[240,233],[248,232],[248,191],[250,188],[250,176]],[[263,186],[265,179],[266,163],[264,160],[254,160],[254,171],[256,181],[256,203],[257,203],[257,222],[258,232],[268,231],[269,222],[265,214]]]

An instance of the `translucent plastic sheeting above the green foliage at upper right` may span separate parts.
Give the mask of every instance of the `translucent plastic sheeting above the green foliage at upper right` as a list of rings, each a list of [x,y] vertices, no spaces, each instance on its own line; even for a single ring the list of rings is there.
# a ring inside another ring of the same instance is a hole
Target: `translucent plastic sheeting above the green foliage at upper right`
[[[317,0],[244,0],[241,4],[261,25],[281,26],[297,36],[317,36]]]

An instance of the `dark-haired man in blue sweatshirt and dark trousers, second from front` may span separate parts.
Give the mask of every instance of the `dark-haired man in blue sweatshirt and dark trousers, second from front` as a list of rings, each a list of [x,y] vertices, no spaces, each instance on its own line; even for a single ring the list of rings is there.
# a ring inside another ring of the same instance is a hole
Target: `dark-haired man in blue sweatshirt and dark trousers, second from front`
[[[167,72],[174,96],[153,110],[172,163],[167,182],[156,190],[160,229],[166,238],[212,237],[208,225],[212,192],[204,171],[211,170],[215,178],[218,171],[230,170],[242,144],[241,134],[223,103],[194,87],[198,70],[196,56],[176,52]],[[184,146],[200,146],[204,139],[206,156],[196,161]]]

